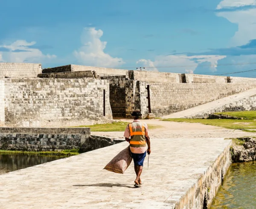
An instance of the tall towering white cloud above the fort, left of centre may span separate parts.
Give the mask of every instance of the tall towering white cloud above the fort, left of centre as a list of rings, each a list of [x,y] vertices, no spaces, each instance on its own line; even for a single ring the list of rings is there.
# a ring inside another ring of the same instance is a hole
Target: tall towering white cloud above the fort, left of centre
[[[76,59],[85,65],[99,67],[118,67],[125,62],[122,58],[114,58],[104,52],[107,42],[101,41],[102,30],[95,28],[84,28],[81,36],[82,46],[79,50],[74,51]]]

